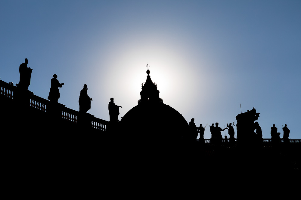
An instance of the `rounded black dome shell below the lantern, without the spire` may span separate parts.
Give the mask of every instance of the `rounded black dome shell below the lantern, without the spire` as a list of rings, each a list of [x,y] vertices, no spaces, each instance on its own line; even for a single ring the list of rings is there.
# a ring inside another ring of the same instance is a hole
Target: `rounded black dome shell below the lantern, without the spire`
[[[189,129],[185,118],[164,103],[141,103],[123,116],[120,125],[129,129],[125,137],[135,140],[178,140]]]

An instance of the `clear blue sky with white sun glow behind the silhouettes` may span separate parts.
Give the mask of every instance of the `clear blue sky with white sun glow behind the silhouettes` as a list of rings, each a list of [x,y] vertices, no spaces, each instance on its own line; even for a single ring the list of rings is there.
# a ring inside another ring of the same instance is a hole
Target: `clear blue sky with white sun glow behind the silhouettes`
[[[58,102],[79,110],[87,84],[88,113],[109,121],[111,97],[119,119],[137,105],[148,64],[163,103],[208,124],[206,139],[209,125],[236,124],[253,107],[264,138],[273,124],[283,137],[287,124],[301,139],[300,9],[298,0],[2,0],[0,77],[18,83],[28,58],[35,95],[47,99],[57,74]]]

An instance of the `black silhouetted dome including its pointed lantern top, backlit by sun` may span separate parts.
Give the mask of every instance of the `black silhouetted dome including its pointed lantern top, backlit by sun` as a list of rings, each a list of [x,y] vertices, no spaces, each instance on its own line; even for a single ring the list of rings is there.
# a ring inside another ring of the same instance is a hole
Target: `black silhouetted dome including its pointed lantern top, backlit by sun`
[[[147,70],[149,72],[149,70]],[[189,129],[185,118],[175,109],[163,103],[157,84],[149,73],[138,105],[127,112],[119,123],[122,137],[130,140],[166,141],[179,140]]]

